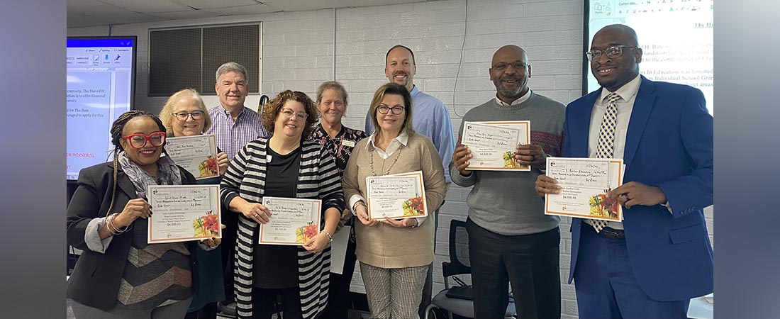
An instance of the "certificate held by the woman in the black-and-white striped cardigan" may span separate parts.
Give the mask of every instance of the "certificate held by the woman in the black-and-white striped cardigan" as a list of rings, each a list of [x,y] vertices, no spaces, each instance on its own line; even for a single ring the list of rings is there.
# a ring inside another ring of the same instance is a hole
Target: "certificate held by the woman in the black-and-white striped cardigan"
[[[301,246],[320,233],[322,200],[263,197],[263,206],[271,218],[260,225],[259,243]]]

